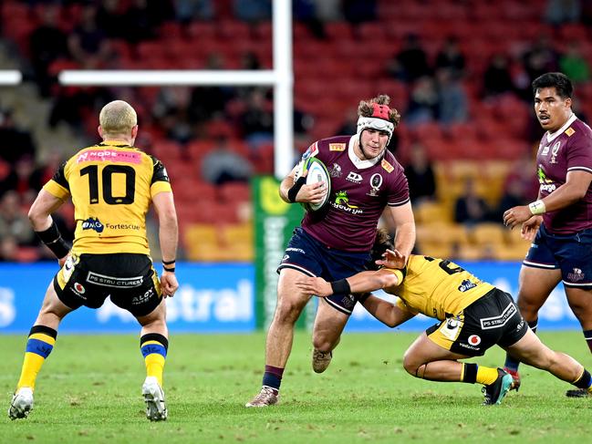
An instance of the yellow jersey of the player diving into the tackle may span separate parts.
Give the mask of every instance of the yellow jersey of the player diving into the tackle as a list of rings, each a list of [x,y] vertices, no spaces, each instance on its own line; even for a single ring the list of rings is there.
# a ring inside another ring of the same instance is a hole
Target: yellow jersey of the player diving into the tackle
[[[400,270],[389,271],[401,277]],[[456,263],[411,255],[402,282],[388,291],[400,297],[401,308],[442,321],[459,315],[492,289],[492,284],[479,280]]]

